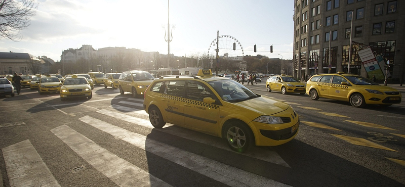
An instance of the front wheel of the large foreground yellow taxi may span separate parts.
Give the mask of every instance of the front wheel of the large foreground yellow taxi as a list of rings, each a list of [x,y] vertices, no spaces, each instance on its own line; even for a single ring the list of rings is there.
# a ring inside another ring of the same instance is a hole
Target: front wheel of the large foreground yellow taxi
[[[225,127],[224,138],[231,150],[244,153],[254,145],[254,136],[249,126],[241,122],[230,122]]]

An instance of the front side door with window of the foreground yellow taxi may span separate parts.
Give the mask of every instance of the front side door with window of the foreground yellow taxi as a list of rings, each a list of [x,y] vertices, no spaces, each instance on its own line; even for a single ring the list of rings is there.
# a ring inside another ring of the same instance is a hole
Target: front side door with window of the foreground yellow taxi
[[[220,106],[204,103],[204,98],[217,98],[203,82],[188,80],[183,103],[185,125],[212,135],[218,135]]]

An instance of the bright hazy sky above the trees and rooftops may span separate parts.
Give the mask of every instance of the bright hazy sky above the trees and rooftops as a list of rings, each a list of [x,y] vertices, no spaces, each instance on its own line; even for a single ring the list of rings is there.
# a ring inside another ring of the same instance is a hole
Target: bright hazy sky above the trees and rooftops
[[[236,38],[244,55],[293,57],[292,0],[170,0],[169,8],[175,56],[207,54],[219,31]],[[20,31],[22,39],[1,38],[0,52],[60,61],[63,50],[89,44],[96,50],[117,46],[167,54],[167,24],[167,0],[39,0],[30,26]]]

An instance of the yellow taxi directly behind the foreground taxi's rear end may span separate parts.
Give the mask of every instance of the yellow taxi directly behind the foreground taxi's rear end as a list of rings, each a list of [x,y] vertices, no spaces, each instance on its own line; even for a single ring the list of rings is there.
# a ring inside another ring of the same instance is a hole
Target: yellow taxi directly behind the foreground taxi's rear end
[[[119,93],[131,92],[132,97],[143,95],[149,84],[155,79],[147,71],[125,71],[118,78]]]

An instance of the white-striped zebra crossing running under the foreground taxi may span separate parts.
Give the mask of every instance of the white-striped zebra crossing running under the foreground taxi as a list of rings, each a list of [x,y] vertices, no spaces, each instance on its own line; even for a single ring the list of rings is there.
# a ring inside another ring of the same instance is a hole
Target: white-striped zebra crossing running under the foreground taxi
[[[141,101],[143,102],[143,100],[130,98],[118,102],[119,105],[111,105],[108,109],[97,110],[96,113],[152,129],[153,126],[150,124],[146,112],[141,110],[143,107]],[[125,111],[125,113],[119,111]],[[91,114],[80,117],[78,121],[104,131],[115,139],[129,143],[145,152],[167,159],[225,185],[288,186],[284,183],[147,138],[142,134],[102,121],[91,116]],[[167,124],[165,127],[155,130],[231,152],[220,138],[201,135],[200,133],[171,124]],[[171,186],[149,172],[118,157],[107,148],[103,148],[96,142],[93,142],[92,139],[75,131],[66,124],[53,128],[51,132],[75,152],[78,157],[84,159],[117,186]],[[10,186],[60,186],[29,139],[6,147],[2,149],[2,152]],[[276,152],[270,150],[254,148],[245,155],[290,168]]]

